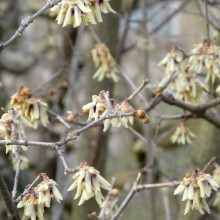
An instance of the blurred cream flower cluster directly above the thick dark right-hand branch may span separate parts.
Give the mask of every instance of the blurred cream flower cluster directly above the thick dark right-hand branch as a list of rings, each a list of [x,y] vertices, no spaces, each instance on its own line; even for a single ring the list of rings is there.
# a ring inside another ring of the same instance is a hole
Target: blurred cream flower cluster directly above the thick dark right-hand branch
[[[175,85],[177,98],[191,104],[200,104],[204,101],[203,86],[188,68],[178,74]]]

